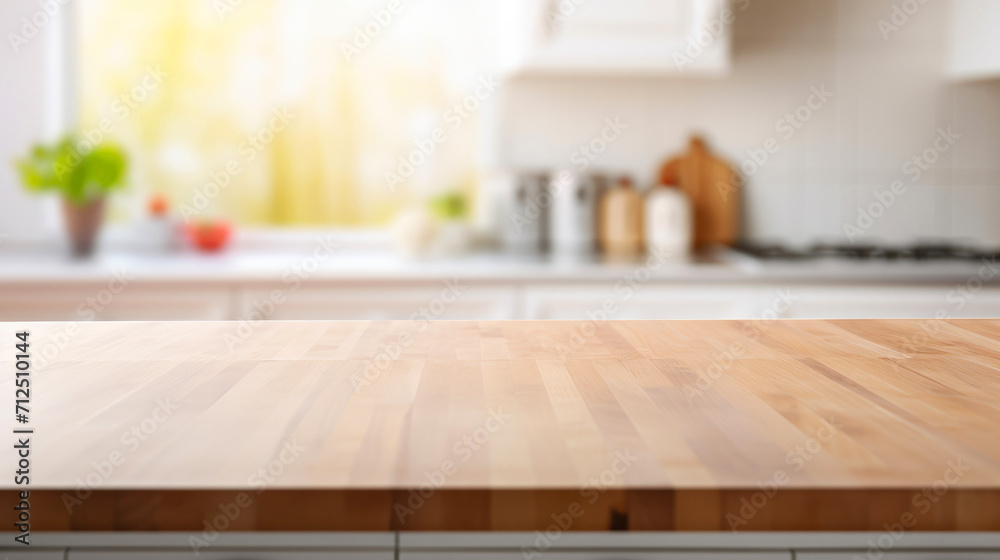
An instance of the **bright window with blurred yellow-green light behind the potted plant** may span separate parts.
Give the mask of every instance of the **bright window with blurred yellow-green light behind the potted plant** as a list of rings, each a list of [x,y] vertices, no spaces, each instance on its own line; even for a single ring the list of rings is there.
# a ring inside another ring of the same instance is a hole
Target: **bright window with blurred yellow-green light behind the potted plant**
[[[132,162],[113,213],[156,193],[187,218],[363,227],[474,195],[487,4],[85,1],[80,124]]]

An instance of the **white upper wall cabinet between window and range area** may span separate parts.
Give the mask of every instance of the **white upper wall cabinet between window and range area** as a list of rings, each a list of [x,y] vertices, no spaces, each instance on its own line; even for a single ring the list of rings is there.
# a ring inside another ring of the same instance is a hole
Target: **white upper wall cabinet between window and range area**
[[[508,74],[720,76],[746,0],[505,0]]]

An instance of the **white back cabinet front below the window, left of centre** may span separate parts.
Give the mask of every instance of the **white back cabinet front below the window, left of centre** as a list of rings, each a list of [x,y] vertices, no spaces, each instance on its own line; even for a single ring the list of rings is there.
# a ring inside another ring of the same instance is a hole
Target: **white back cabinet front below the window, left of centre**
[[[256,315],[272,320],[410,319],[416,315],[500,321],[517,319],[519,304],[514,288],[483,287],[466,281],[384,287],[310,286],[297,290],[276,285],[243,291],[239,318]]]

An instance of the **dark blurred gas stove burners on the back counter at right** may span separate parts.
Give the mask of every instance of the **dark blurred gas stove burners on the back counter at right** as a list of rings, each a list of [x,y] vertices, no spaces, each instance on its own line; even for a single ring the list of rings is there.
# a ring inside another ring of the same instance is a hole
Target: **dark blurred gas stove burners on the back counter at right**
[[[763,260],[803,260],[817,258],[840,258],[853,260],[880,261],[931,261],[931,260],[992,260],[998,251],[981,251],[961,245],[945,243],[918,243],[907,247],[884,245],[813,245],[809,249],[795,250],[780,244],[744,244],[740,251]]]

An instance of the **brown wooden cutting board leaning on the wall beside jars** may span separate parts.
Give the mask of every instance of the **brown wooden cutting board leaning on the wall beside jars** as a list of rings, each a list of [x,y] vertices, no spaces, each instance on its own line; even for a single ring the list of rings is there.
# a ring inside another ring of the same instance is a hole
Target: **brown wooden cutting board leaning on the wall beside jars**
[[[678,185],[691,199],[694,244],[732,245],[739,237],[739,176],[708,151],[704,140],[691,138],[687,153],[660,168],[660,183]]]

